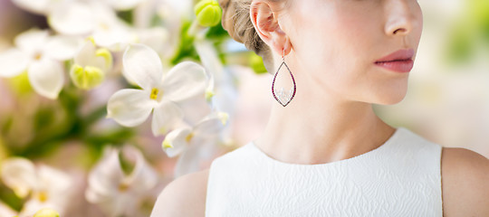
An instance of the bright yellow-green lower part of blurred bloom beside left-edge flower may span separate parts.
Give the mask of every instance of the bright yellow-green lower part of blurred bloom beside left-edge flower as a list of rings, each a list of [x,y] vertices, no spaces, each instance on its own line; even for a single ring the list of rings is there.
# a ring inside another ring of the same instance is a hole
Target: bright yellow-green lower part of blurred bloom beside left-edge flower
[[[83,68],[78,64],[73,64],[70,76],[76,87],[91,90],[101,84],[105,74],[97,67],[86,66]]]

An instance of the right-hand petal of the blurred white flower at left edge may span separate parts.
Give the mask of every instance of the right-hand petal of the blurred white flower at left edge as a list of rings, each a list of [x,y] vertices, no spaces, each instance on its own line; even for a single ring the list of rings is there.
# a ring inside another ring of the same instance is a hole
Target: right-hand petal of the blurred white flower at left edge
[[[46,43],[44,54],[58,61],[66,61],[73,58],[81,45],[80,37],[56,35]]]

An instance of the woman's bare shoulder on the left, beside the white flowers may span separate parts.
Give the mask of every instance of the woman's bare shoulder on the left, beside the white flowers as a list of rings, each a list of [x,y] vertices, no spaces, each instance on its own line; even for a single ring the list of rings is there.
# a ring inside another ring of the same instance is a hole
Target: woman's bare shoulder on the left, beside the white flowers
[[[205,216],[209,169],[182,175],[159,193],[151,217]]]

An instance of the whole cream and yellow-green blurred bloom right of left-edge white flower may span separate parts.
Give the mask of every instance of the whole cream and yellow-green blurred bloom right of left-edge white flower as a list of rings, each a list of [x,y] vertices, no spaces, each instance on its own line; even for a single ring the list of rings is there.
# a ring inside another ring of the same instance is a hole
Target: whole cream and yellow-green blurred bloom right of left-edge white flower
[[[112,55],[105,48],[97,49],[95,42],[88,40],[75,55],[70,76],[81,89],[90,90],[103,81],[112,67]]]

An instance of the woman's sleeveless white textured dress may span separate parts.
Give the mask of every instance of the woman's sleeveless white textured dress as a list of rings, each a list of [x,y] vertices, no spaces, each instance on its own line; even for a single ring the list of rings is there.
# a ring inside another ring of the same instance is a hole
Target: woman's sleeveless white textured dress
[[[442,216],[441,146],[398,127],[382,146],[318,165],[253,142],[211,164],[206,216]]]

